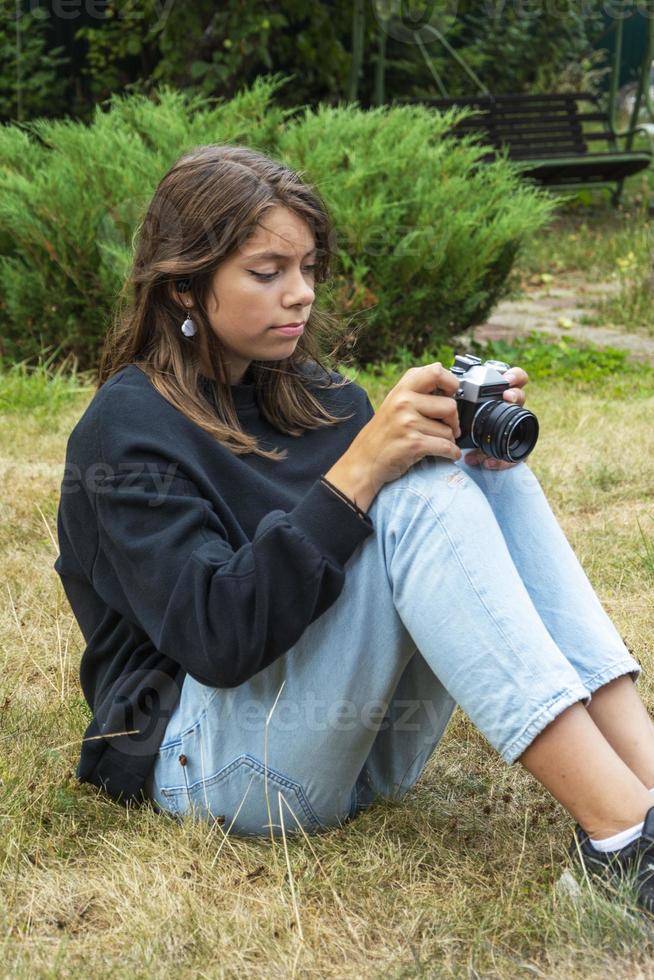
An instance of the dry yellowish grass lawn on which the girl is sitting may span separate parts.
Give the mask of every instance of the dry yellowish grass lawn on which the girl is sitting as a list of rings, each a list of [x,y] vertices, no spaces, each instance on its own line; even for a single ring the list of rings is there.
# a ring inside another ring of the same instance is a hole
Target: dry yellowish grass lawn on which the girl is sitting
[[[287,848],[126,812],[76,783],[82,641],[52,565],[86,398],[0,417],[3,975],[654,977],[651,928],[583,883],[576,898],[557,889],[569,819],[460,714],[404,801]],[[654,389],[630,404],[541,386],[530,405],[534,469],[647,668]]]

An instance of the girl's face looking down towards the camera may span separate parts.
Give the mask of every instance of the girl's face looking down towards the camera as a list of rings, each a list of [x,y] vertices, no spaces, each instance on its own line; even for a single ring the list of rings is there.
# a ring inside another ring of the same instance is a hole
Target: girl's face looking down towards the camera
[[[314,293],[315,241],[306,222],[283,207],[271,209],[254,235],[219,266],[207,311],[225,348],[229,383],[239,384],[251,361],[277,361],[295,350]]]

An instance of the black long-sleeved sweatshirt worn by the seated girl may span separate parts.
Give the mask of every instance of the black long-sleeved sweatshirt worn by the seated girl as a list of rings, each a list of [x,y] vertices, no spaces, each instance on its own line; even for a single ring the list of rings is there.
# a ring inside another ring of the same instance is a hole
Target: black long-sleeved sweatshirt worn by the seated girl
[[[93,720],[77,776],[114,799],[142,798],[185,674],[235,687],[281,657],[338,598],[373,531],[320,481],[374,414],[370,401],[354,382],[320,387],[317,365],[304,371],[348,421],[287,436],[259,414],[253,383],[231,387],[243,429],[288,451],[279,462],[225,449],[135,364],[96,392],[69,437],[54,567],[86,643]]]

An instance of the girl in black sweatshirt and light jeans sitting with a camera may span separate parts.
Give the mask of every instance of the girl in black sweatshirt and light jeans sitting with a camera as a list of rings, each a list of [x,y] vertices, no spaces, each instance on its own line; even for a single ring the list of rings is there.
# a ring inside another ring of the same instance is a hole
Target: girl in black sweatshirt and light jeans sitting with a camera
[[[576,818],[586,866],[654,907],[638,664],[527,465],[462,458],[453,374],[410,369],[375,414],[325,365],[331,243],[318,194],[245,148],[157,188],[59,506],[78,776],[313,832],[401,797],[458,703]]]

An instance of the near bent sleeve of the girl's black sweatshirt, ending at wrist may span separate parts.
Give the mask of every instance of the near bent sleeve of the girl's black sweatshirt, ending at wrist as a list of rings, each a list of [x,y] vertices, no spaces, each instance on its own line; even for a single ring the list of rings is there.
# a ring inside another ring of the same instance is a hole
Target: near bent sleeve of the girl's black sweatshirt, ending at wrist
[[[336,600],[345,563],[373,532],[320,480],[293,510],[266,514],[238,550],[179,471],[108,476],[95,504],[93,587],[212,687],[238,686],[290,649]],[[110,594],[116,581],[120,596]]]

